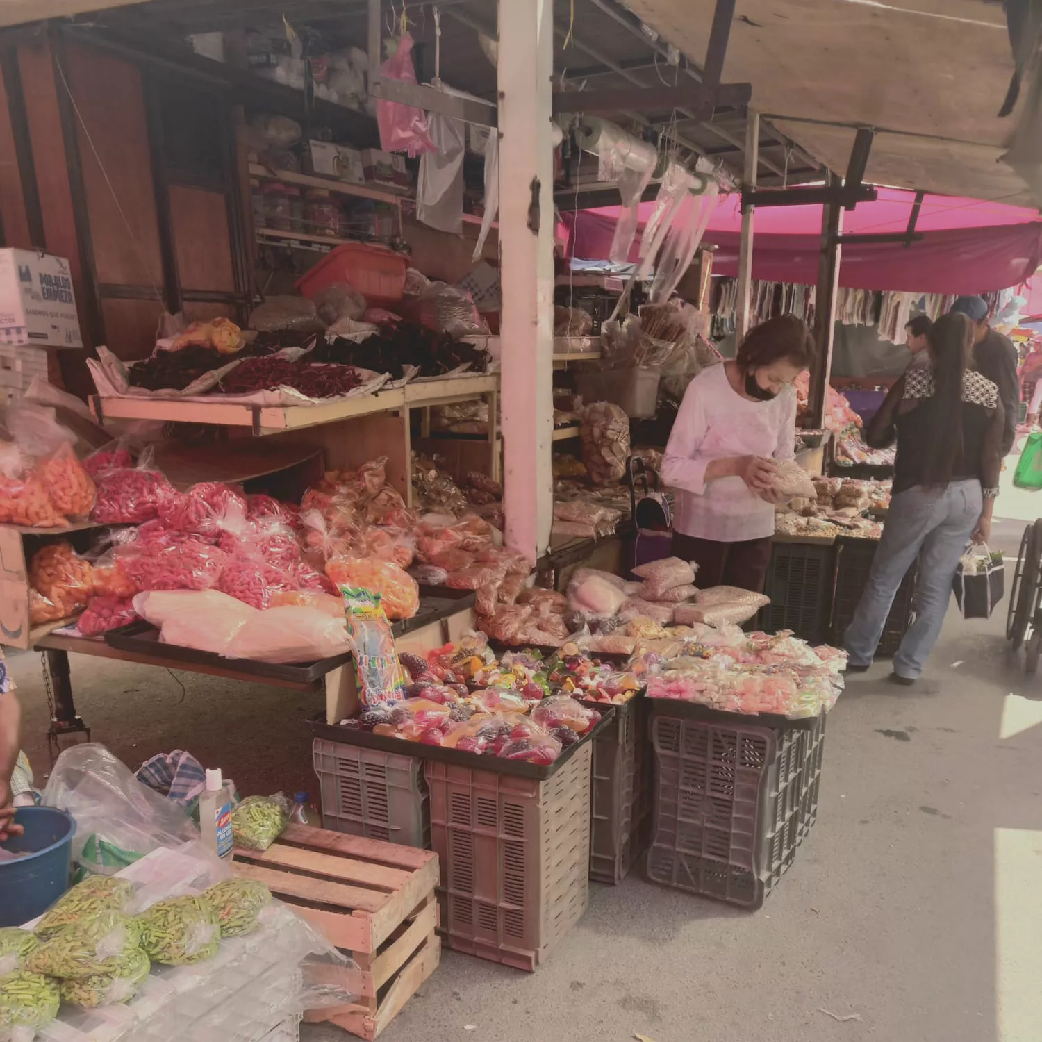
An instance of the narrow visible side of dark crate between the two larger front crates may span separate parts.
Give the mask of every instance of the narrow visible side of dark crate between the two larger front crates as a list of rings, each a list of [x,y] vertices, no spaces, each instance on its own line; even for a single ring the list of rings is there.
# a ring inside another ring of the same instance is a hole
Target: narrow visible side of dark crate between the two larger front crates
[[[597,703],[587,704],[596,708]],[[593,741],[590,778],[590,878],[616,886],[640,857],[651,807],[645,777],[647,701],[636,697],[617,705],[615,719]]]

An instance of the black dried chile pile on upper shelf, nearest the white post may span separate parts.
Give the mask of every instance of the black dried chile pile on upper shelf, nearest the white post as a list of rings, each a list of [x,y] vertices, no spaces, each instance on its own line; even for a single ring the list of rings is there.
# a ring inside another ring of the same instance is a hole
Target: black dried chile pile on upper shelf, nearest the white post
[[[381,325],[361,344],[338,337],[330,344],[319,344],[314,353],[318,361],[362,366],[395,379],[404,375],[405,366],[419,367],[421,376],[441,376],[461,366],[485,372],[489,363],[483,348],[411,322]]]

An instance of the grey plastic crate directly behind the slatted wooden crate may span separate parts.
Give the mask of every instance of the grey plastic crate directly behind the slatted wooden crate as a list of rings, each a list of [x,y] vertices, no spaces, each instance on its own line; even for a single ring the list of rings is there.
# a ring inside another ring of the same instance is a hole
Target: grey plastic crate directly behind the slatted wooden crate
[[[322,824],[337,833],[429,849],[427,793],[415,756],[316,738]]]

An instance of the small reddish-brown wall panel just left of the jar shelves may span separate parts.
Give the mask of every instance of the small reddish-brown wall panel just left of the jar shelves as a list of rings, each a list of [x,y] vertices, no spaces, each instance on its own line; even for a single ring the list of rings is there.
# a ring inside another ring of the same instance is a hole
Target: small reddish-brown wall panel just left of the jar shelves
[[[181,289],[234,293],[235,274],[224,195],[172,184],[170,226]]]

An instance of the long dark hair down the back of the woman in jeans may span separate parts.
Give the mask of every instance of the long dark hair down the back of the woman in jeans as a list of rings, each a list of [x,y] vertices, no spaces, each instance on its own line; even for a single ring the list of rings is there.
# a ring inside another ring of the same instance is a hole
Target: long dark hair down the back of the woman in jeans
[[[973,343],[973,323],[965,315],[942,315],[926,336],[934,363],[937,425],[925,447],[923,485],[943,489],[963,452],[963,374]]]

